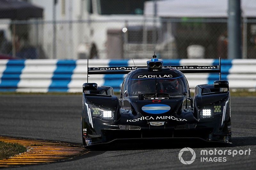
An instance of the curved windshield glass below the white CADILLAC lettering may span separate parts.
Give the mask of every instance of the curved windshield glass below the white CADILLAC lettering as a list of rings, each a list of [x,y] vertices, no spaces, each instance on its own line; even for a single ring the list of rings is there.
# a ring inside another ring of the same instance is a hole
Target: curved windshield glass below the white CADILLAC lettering
[[[124,97],[141,93],[167,93],[170,96],[185,95],[187,92],[183,76],[178,78],[128,79],[124,84]]]

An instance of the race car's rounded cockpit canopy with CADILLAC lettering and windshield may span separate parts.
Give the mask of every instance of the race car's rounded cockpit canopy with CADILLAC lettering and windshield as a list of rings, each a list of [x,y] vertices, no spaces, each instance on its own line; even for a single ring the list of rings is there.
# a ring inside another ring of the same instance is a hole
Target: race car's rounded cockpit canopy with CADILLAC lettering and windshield
[[[184,96],[188,92],[185,76],[178,71],[164,68],[162,71],[137,69],[128,74],[122,85],[123,97],[142,93],[167,93],[169,96]]]

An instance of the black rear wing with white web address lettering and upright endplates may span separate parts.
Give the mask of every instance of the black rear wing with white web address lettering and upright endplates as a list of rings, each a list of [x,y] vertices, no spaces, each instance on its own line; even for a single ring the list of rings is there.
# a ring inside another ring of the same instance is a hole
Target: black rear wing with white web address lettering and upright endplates
[[[87,60],[87,82],[90,74],[128,74],[137,68],[147,68],[147,66],[124,66],[124,67],[89,67]],[[221,60],[219,65],[179,65],[163,66],[163,68],[173,68],[180,70],[182,73],[219,73],[221,80]]]

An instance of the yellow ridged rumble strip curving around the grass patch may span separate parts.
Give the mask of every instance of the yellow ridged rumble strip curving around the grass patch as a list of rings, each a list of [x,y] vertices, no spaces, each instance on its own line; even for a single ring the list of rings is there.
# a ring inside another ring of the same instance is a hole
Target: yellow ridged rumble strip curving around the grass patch
[[[0,136],[0,141],[26,146],[27,152],[0,160],[1,167],[52,163],[63,159],[73,159],[87,153],[84,147],[57,141],[30,140]]]

